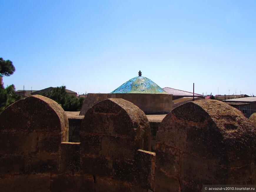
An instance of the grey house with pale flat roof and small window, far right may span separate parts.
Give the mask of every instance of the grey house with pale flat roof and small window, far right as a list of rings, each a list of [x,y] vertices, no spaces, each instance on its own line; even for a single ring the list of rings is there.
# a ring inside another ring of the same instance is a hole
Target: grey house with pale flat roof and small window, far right
[[[252,113],[256,112],[256,97],[244,97],[236,99],[222,100],[232,107],[237,108],[239,111],[249,118]]]

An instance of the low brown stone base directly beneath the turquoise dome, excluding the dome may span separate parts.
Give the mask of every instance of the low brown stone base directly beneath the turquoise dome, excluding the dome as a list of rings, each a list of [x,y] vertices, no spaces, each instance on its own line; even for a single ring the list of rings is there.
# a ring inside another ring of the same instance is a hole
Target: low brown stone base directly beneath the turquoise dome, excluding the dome
[[[144,113],[169,113],[172,110],[171,94],[87,94],[80,115],[84,115],[95,103],[107,98],[122,98],[134,103]]]

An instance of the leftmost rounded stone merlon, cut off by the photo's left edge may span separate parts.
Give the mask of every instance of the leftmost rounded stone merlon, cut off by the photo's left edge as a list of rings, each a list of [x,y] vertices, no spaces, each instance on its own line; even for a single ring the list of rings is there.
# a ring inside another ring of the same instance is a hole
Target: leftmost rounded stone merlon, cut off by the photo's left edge
[[[55,101],[35,95],[6,108],[0,115],[1,190],[47,191],[65,141],[67,116]]]

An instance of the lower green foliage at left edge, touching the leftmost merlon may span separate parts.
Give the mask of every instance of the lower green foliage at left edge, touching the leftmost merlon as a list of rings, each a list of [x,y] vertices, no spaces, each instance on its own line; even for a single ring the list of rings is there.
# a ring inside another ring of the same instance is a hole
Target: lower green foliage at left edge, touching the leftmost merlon
[[[21,99],[21,96],[14,94],[14,91],[14,84],[6,87],[5,89],[2,85],[0,86],[0,113],[2,113],[6,107]]]

